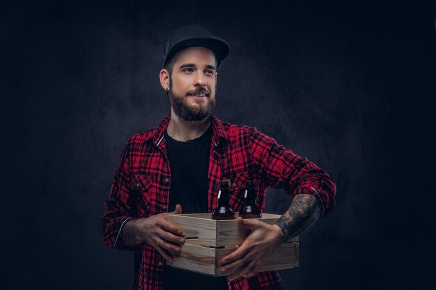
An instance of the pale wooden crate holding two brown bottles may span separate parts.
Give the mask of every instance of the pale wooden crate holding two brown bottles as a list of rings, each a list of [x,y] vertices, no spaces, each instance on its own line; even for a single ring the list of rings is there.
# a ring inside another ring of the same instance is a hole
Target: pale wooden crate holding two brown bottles
[[[238,216],[238,214],[237,214]],[[263,214],[261,221],[273,225],[280,218],[277,214]],[[211,214],[169,215],[168,220],[183,229],[186,242],[179,256],[173,257],[170,266],[212,276],[222,274],[221,259],[242,244],[249,231],[236,220],[212,220]],[[298,237],[281,248],[267,261],[260,271],[281,270],[298,266]]]

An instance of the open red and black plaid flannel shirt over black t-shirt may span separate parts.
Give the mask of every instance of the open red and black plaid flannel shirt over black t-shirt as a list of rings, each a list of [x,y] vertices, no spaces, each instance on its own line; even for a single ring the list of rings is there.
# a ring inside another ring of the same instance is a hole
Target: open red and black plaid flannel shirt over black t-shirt
[[[133,247],[123,245],[120,234],[131,218],[147,218],[169,211],[171,171],[166,155],[164,131],[171,115],[149,131],[127,140],[116,175],[104,202],[102,241],[110,248],[134,250],[133,289],[161,290],[164,258],[143,242]],[[243,196],[236,193],[251,178],[257,186],[258,206],[263,211],[267,187],[283,188],[294,197],[299,193],[315,195],[324,207],[323,214],[334,209],[336,185],[327,172],[297,156],[254,127],[237,126],[210,118],[213,129],[209,160],[208,209],[217,205],[219,182],[230,178],[231,207],[240,211]],[[173,209],[171,209],[173,210]],[[277,271],[260,272],[249,279],[240,277],[228,282],[228,289],[283,289]]]

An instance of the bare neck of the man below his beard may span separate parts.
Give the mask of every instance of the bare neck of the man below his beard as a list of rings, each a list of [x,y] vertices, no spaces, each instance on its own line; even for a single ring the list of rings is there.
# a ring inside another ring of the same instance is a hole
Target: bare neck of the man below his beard
[[[209,118],[205,118],[201,121],[187,121],[180,118],[171,109],[171,119],[169,120],[166,131],[168,131],[171,138],[185,142],[200,137],[209,126]]]

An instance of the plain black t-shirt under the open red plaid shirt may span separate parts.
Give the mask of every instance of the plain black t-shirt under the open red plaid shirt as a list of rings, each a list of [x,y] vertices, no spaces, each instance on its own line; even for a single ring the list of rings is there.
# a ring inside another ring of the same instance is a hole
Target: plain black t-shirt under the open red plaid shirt
[[[208,169],[210,145],[212,143],[210,126],[200,137],[181,142],[174,140],[165,131],[166,151],[171,168],[169,192],[169,211],[182,205],[183,214],[208,212]],[[212,277],[185,271],[171,266],[164,268],[164,290],[228,289],[226,277]]]

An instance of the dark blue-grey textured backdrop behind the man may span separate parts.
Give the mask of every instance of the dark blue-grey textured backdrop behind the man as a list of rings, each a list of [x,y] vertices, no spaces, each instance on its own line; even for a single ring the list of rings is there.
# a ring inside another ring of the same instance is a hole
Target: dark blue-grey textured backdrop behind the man
[[[103,201],[125,140],[169,113],[162,49],[192,23],[232,47],[216,115],[336,179],[336,210],[302,234],[285,289],[435,289],[432,9],[0,1],[6,289],[130,289],[132,253],[101,243]],[[283,191],[267,196],[268,212],[290,204]]]

